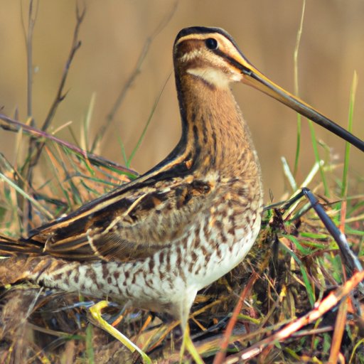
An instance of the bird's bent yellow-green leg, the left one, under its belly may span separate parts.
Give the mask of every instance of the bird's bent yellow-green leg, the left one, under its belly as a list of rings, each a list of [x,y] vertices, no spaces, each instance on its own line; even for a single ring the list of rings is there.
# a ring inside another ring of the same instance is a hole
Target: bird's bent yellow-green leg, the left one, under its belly
[[[94,304],[92,307],[90,307],[89,311],[92,316],[93,321],[102,328],[103,330],[107,331],[110,335],[114,336],[117,340],[119,340],[124,346],[126,346],[132,353],[137,350],[137,352],[140,354],[143,363],[151,364],[151,359],[149,358],[144,351],[142,351],[137,345],[135,345],[132,341],[127,338],[127,336],[124,336],[120,331],[118,331],[114,326],[110,325],[107,321],[102,319],[101,311],[102,309],[105,309],[105,307],[109,306],[109,303],[107,301],[100,301],[97,304]]]

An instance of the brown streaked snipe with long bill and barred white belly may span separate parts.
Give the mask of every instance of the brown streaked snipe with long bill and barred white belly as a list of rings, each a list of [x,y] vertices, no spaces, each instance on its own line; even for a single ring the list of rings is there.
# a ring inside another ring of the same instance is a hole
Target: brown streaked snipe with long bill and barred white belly
[[[181,321],[200,289],[250,251],[263,208],[242,82],[344,137],[363,141],[270,81],[221,28],[184,28],[173,45],[181,139],[134,181],[14,239],[1,236],[0,285],[24,280],[166,312]]]

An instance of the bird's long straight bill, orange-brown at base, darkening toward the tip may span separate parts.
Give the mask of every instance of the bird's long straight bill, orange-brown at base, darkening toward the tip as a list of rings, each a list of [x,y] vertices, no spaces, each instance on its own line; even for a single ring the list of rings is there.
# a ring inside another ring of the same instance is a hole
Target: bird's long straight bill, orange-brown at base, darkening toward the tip
[[[350,144],[353,144],[353,146],[356,146],[360,149],[360,151],[364,151],[363,140],[355,137],[355,135],[323,116],[323,114],[306,104],[306,102],[300,100],[294,95],[291,95],[282,87],[276,85],[274,82],[269,80],[269,78],[260,73],[259,70],[257,70],[244,56],[242,56],[239,60],[233,60],[233,63],[235,67],[239,68],[242,72],[243,83],[255,87],[257,90],[274,97],[274,99],[282,102],[291,109],[296,110],[296,112],[299,112],[304,117],[311,119],[313,122],[316,122],[316,124],[321,125],[321,127],[328,129],[333,134],[336,134],[338,137],[341,137]]]

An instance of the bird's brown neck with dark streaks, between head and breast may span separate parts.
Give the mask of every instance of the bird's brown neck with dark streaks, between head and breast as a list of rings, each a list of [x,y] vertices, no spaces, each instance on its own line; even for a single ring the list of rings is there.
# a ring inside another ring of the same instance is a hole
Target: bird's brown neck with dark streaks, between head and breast
[[[215,170],[261,183],[255,146],[230,88],[187,73],[177,75],[176,84],[182,118],[176,149],[191,160],[191,171],[203,175]]]

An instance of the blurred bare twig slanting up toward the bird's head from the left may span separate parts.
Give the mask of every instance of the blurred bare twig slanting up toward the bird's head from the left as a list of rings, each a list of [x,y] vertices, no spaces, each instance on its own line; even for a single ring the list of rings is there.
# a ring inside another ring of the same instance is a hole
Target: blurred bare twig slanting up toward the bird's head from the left
[[[166,16],[164,16],[164,18],[161,20],[161,22],[158,24],[158,26],[156,26],[156,29],[154,30],[154,32],[151,33],[151,36],[146,38],[143,48],[141,49],[141,53],[139,54],[139,58],[137,60],[137,65],[135,65],[133,72],[129,76],[127,82],[125,82],[124,87],[122,87],[122,90],[120,91],[119,95],[117,96],[117,99],[115,100],[114,105],[112,105],[112,108],[111,108],[109,114],[107,114],[105,124],[103,124],[100,127],[100,129],[98,130],[98,132],[96,133],[96,137],[91,146],[91,151],[94,151],[97,148],[97,144],[100,143],[100,140],[102,139],[105,132],[107,131],[107,128],[114,120],[114,116],[117,113],[117,110],[121,107],[122,102],[124,101],[125,96],[127,95],[127,92],[129,91],[130,87],[133,85],[134,81],[136,80],[136,78],[138,77],[138,75],[140,73],[141,65],[143,65],[143,63],[144,63],[146,55],[149,52],[151,43],[154,41],[156,36],[158,36],[158,34],[163,30],[163,28],[171,20],[173,14],[175,13],[175,11],[177,9],[177,4],[178,4],[178,2],[175,1],[171,11],[168,14],[166,14]]]

